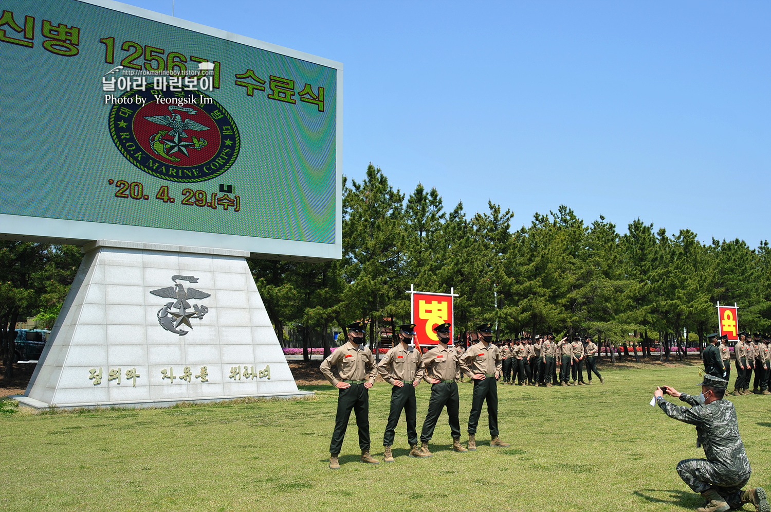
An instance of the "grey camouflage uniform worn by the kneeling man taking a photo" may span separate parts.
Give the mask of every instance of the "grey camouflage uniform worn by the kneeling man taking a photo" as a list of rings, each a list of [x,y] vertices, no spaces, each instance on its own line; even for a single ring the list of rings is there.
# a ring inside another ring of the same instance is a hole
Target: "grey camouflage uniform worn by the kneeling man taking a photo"
[[[664,399],[657,402],[670,418],[696,426],[696,447],[702,446],[707,458],[681,460],[678,475],[695,493],[715,489],[731,508],[741,508],[741,490],[752,469],[739,436],[736,409],[729,400],[700,405],[696,397],[685,393],[680,399],[692,407]]]

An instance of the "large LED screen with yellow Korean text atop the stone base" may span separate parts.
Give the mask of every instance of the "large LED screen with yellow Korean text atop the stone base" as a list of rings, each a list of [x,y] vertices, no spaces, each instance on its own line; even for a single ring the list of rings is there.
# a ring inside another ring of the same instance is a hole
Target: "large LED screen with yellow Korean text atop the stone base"
[[[335,254],[338,63],[117,2],[2,9],[2,231]]]

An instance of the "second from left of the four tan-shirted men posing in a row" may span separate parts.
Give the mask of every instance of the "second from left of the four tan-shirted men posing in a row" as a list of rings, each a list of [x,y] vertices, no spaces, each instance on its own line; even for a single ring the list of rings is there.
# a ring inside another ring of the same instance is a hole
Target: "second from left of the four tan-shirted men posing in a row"
[[[399,344],[385,353],[378,365],[378,371],[382,378],[393,386],[391,388],[391,409],[388,415],[388,423],[383,434],[383,462],[394,461],[391,453],[394,432],[399,425],[399,416],[402,410],[407,420],[407,441],[409,441],[409,456],[429,457],[430,453],[423,453],[418,448],[418,432],[416,430],[418,405],[415,398],[415,388],[423,379],[423,354],[414,347],[409,346],[409,341],[415,336],[415,324],[402,324],[399,326]]]

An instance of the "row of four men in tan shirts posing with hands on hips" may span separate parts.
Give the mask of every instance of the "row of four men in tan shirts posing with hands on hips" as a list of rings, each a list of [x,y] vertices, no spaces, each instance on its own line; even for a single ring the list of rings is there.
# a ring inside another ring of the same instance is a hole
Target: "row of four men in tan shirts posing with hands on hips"
[[[348,428],[351,411],[355,412],[356,425],[359,426],[359,448],[362,449],[362,463],[378,464],[379,461],[369,453],[369,388],[375,383],[380,373],[393,386],[391,390],[391,408],[388,424],[383,436],[383,456],[387,463],[394,462],[391,446],[394,442],[396,426],[402,410],[406,415],[407,439],[411,457],[430,457],[429,441],[433,436],[436,421],[442,409],[447,409],[449,429],[453,436],[453,450],[466,452],[476,450],[476,426],[482,412],[482,405],[487,402],[488,424],[490,427],[490,446],[510,446],[498,437],[498,392],[497,378],[503,366],[500,349],[492,344],[492,324],[477,327],[480,341],[470,346],[459,355],[454,347],[448,346],[450,324],[434,327],[439,338],[435,348],[421,354],[409,346],[415,335],[415,324],[399,326],[399,344],[390,349],[379,365],[375,365],[372,351],[366,348],[364,341],[364,322],[354,322],[348,326],[348,342],[335,349],[320,367],[322,374],[330,384],[339,388],[338,409],[335,417],[335,431],[329,445],[329,467],[340,467],[339,453]],[[468,375],[474,383],[471,412],[468,423],[467,449],[460,444],[460,398],[457,381],[461,373]],[[416,430],[417,403],[415,388],[421,380],[429,382],[431,398],[423,430],[420,434],[422,446],[418,446]]]

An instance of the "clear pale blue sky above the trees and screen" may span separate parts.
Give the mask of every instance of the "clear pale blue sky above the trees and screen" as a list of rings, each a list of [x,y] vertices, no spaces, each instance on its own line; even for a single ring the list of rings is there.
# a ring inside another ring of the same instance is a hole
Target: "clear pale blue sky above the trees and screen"
[[[171,14],[172,0],[130,0]],[[342,62],[343,172],[447,209],[771,238],[771,2],[176,0]],[[716,202],[715,202],[716,201]]]

